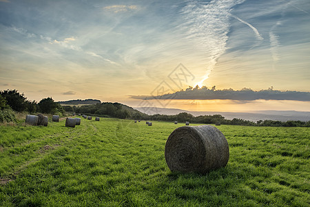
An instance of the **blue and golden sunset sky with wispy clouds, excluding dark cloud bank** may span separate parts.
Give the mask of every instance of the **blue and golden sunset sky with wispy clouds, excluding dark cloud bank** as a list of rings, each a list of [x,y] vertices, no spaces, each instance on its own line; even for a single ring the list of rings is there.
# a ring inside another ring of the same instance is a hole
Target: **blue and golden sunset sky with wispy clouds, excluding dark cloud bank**
[[[197,85],[309,97],[309,56],[309,0],[0,0],[0,90],[30,100],[310,111],[300,99],[133,98]]]

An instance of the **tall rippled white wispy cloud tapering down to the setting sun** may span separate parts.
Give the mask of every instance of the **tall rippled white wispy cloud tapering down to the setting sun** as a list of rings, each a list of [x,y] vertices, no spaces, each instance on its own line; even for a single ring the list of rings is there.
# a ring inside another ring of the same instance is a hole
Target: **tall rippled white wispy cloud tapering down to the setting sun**
[[[193,1],[183,8],[183,17],[186,20],[183,28],[187,39],[193,39],[196,47],[203,50],[209,59],[206,63],[207,72],[199,82],[200,85],[209,77],[218,58],[227,49],[229,11],[233,6],[242,2],[220,0],[200,3]]]

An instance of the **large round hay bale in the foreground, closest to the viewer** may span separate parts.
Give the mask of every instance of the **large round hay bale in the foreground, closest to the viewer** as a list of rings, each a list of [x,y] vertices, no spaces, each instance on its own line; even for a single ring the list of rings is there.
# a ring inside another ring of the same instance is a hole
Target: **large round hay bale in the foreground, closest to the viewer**
[[[206,173],[227,165],[228,143],[214,126],[182,126],[169,135],[165,159],[172,172]]]

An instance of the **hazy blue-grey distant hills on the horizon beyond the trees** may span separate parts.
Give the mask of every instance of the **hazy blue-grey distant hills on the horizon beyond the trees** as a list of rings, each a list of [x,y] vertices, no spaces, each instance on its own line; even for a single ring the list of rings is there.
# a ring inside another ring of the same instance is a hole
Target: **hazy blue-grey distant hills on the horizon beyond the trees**
[[[214,111],[188,111],[176,108],[155,108],[140,107],[134,108],[147,115],[177,115],[180,112],[187,112],[194,116],[200,115],[222,115],[225,119],[245,119],[249,121],[273,120],[273,121],[310,121],[310,112],[300,112],[295,110],[257,110],[249,112],[214,112]]]

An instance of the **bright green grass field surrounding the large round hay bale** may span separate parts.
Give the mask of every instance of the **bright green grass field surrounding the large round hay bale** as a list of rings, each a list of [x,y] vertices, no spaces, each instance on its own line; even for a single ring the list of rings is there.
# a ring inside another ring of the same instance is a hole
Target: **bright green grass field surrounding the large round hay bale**
[[[64,125],[0,126],[0,206],[310,206],[309,128],[216,126],[229,162],[199,175],[165,162],[185,124]]]

